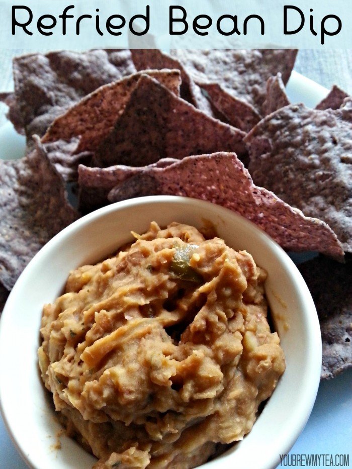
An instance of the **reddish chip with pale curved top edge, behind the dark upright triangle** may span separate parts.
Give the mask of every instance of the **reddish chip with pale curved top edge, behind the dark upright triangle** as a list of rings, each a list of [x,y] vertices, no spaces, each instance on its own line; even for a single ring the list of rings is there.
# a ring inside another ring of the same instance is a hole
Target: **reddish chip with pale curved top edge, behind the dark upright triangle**
[[[179,95],[181,78],[178,70],[146,70],[143,73]],[[101,86],[50,125],[42,143],[50,161],[65,180],[77,179],[78,164],[90,164],[92,152],[113,130],[141,76],[141,73],[134,73]]]

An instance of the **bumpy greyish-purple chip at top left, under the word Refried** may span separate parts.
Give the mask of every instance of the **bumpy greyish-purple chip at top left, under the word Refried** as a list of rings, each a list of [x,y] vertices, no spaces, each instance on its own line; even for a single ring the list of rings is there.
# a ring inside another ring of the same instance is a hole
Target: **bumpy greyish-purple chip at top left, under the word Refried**
[[[128,50],[59,51],[14,59],[15,97],[27,143],[53,120],[103,84],[135,72]]]

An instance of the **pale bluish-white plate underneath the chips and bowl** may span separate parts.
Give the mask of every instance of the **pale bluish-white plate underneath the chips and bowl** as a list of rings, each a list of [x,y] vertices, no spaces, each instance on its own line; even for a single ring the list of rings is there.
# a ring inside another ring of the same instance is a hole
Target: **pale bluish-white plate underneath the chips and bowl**
[[[303,102],[307,106],[314,107],[326,96],[328,90],[303,75],[292,72],[287,92],[291,102]],[[0,127],[0,158],[19,158],[23,156],[24,147],[24,137],[19,136],[10,123]],[[14,379],[18,378],[14,377]],[[20,381],[19,386],[21,386]],[[342,373],[334,380],[320,384],[312,414],[300,438],[290,451],[290,455],[331,454],[334,458],[335,455],[348,453],[352,434],[351,389],[352,370]],[[30,435],[28,437],[30,438]],[[26,469],[27,467],[14,447],[1,417],[0,461],[4,469]],[[334,459],[333,461],[335,462]],[[352,457],[349,458],[349,463],[352,464]]]

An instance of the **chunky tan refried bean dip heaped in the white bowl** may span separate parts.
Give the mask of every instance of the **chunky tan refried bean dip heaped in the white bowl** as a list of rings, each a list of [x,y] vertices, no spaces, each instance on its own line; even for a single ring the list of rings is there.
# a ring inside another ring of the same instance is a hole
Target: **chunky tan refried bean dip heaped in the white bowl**
[[[284,372],[267,274],[188,225],[134,235],[44,306],[42,379],[96,469],[195,467],[251,430]]]

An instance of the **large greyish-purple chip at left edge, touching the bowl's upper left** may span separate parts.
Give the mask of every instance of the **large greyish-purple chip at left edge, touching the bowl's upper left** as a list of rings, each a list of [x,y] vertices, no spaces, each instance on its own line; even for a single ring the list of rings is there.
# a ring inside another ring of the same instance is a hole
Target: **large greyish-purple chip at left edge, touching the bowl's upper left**
[[[38,138],[24,158],[0,160],[0,195],[0,283],[11,290],[34,254],[77,214]]]

